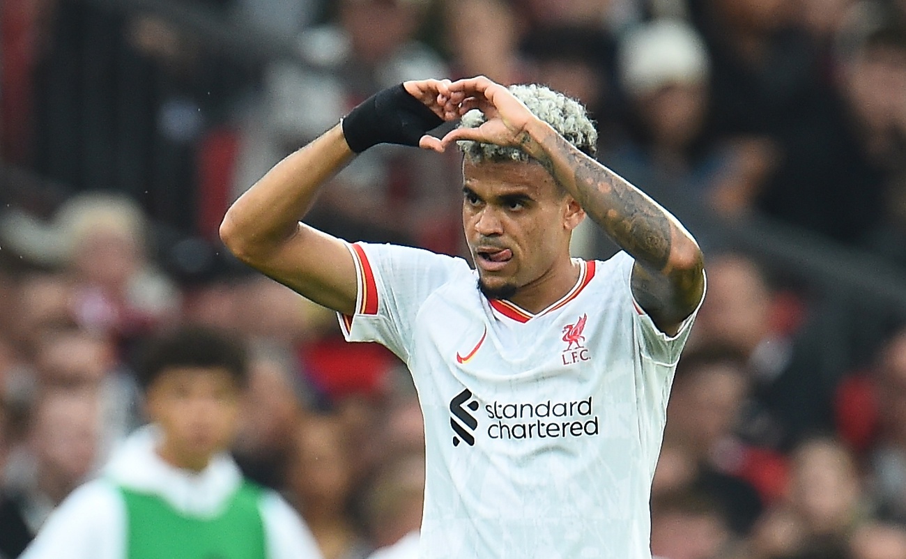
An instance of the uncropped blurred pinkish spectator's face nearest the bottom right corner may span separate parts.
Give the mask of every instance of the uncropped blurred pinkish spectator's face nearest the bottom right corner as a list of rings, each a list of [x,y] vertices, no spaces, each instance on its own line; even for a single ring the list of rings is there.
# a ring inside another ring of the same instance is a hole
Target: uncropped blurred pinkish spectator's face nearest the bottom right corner
[[[791,483],[791,502],[811,534],[840,534],[849,527],[861,488],[853,458],[842,445],[816,440],[798,448]]]

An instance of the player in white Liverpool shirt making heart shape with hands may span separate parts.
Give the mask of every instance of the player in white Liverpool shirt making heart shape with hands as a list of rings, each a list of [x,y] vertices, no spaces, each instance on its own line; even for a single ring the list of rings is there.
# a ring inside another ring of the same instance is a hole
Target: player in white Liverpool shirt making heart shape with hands
[[[298,222],[382,142],[460,142],[474,269]],[[582,106],[544,87],[405,82],[278,163],[221,226],[248,265],[338,311],[348,340],[409,366],[426,430],[423,558],[651,557],[651,477],[705,275],[694,239],[595,161],[595,142]],[[571,258],[586,214],[622,252]]]

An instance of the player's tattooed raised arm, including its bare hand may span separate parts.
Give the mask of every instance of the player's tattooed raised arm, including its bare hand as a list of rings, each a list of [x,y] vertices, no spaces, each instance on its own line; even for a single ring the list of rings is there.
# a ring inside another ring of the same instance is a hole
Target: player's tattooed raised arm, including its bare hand
[[[661,331],[677,332],[698,306],[705,276],[698,244],[675,217],[574,148],[502,85],[484,77],[453,82],[439,101],[446,103],[447,111],[477,108],[487,122],[477,129],[453,130],[429,147],[445,149],[456,140],[477,140],[525,150],[635,258],[632,294]]]

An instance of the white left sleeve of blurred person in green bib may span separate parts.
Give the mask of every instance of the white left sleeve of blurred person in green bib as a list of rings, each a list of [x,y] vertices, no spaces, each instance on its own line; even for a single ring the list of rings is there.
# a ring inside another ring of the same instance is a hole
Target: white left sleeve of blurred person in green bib
[[[66,497],[38,531],[22,559],[120,559],[126,511],[119,492],[98,479]]]

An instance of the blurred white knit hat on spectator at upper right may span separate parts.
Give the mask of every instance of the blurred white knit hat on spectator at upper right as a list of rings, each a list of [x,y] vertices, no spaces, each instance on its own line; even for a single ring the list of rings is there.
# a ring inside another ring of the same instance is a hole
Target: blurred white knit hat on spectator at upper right
[[[667,85],[708,80],[708,49],[696,31],[679,20],[658,20],[629,31],[620,44],[623,87],[644,95]]]

